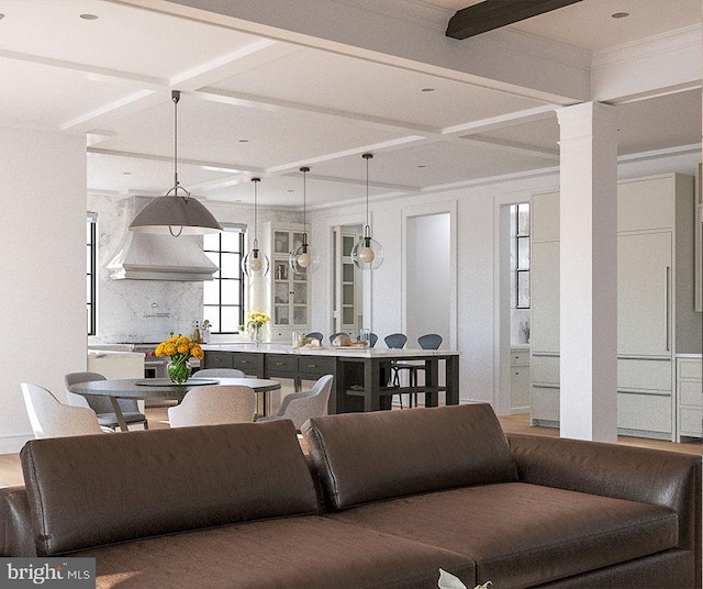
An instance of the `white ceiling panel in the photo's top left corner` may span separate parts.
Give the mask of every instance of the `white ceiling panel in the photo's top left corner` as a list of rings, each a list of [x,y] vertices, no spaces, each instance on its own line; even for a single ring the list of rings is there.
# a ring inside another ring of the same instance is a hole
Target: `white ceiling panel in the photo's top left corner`
[[[103,0],[0,0],[0,49],[169,79],[257,37]],[[94,14],[83,20],[80,14]]]

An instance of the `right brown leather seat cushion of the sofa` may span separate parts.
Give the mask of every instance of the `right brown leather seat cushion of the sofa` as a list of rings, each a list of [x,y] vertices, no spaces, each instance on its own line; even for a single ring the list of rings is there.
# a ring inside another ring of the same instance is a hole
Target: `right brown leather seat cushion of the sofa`
[[[331,513],[469,556],[477,582],[529,587],[674,548],[669,509],[524,482],[486,485]]]

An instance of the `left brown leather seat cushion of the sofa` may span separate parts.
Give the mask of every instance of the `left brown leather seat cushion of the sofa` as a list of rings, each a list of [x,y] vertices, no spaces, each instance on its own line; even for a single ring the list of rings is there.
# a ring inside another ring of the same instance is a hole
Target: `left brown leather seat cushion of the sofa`
[[[466,556],[319,515],[261,520],[74,553],[105,589],[437,587],[439,568],[475,586]]]

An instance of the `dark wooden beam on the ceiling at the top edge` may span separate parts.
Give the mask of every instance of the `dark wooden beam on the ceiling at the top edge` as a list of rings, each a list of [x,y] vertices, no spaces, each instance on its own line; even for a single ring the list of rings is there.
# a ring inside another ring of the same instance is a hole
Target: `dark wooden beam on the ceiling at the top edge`
[[[449,19],[446,35],[468,38],[577,2],[581,0],[483,0],[457,11]]]

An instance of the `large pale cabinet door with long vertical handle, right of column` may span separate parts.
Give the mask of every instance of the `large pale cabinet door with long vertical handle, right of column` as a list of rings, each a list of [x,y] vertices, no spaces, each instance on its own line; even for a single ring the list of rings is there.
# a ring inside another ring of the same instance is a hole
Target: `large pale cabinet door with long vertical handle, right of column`
[[[617,238],[617,353],[671,352],[671,233]]]

